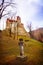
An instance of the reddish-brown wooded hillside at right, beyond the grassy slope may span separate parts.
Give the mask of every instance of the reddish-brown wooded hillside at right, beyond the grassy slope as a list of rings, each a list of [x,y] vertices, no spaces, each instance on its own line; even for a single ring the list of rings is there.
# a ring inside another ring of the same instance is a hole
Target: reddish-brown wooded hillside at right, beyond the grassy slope
[[[33,30],[32,37],[40,42],[43,42],[43,28]]]

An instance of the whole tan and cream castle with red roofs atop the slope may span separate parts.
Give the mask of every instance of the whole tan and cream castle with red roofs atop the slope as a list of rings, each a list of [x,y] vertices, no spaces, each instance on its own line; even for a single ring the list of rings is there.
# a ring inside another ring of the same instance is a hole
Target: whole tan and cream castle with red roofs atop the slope
[[[21,18],[17,16],[16,20],[7,19],[6,21],[6,29],[9,30],[11,28],[12,33],[17,33],[17,35],[27,35],[27,32],[24,28],[23,23],[21,23]]]

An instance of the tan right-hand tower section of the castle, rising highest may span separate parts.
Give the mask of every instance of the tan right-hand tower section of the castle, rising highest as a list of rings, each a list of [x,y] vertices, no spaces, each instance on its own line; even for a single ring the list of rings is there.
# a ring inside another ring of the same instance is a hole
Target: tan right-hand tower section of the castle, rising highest
[[[21,18],[17,16],[17,23],[18,23],[18,35],[26,35],[26,30],[24,28],[23,23],[21,23]]]

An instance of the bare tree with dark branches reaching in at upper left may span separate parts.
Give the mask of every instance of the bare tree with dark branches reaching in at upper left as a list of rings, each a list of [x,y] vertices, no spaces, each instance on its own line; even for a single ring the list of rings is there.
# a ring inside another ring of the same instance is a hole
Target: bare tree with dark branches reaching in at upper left
[[[1,0],[1,4],[0,4],[0,19],[7,15],[7,14],[10,14],[10,12],[6,13],[6,14],[3,14],[3,12],[5,11],[5,9],[8,7],[8,6],[13,6],[15,5],[16,3],[12,3],[12,0],[10,0],[10,2],[5,2],[5,0]],[[15,6],[14,6],[15,7]]]

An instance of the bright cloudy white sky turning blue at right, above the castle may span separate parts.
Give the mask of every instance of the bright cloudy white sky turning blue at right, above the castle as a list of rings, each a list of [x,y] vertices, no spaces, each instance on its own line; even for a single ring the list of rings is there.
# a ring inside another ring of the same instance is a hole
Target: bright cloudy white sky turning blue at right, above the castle
[[[8,1],[8,0],[6,0]],[[16,8],[9,8],[7,11],[15,12],[17,11],[15,16],[21,17],[21,22],[24,24],[25,29],[28,31],[27,25],[32,24],[32,29],[37,29],[39,27],[43,27],[43,0],[12,0],[15,2]],[[5,13],[5,12],[4,12]],[[10,14],[12,15],[12,14]],[[5,28],[5,19],[7,17],[3,17],[4,21],[0,23],[0,29]]]

